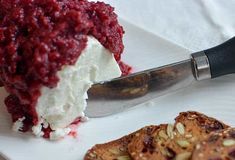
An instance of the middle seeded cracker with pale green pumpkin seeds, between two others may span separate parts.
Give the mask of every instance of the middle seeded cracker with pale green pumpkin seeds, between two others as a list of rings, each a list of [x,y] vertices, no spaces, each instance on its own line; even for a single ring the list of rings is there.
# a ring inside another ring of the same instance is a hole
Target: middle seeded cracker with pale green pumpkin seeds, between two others
[[[228,126],[204,114],[183,112],[176,117],[174,125],[160,125],[134,136],[128,144],[128,152],[134,160],[187,160],[198,141],[224,128]]]

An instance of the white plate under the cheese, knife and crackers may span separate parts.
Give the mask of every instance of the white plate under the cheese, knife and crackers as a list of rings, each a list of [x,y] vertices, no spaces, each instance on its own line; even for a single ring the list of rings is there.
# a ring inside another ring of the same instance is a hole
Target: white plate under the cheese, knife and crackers
[[[126,30],[123,59],[135,71],[185,59],[189,51],[134,25],[121,21]],[[79,160],[94,144],[129,134],[143,126],[173,122],[181,111],[196,110],[235,125],[235,76],[200,82],[184,90],[162,96],[129,111],[110,117],[90,119],[78,128],[78,138],[58,142],[37,139],[11,131],[11,121],[0,89],[0,153],[11,160]]]

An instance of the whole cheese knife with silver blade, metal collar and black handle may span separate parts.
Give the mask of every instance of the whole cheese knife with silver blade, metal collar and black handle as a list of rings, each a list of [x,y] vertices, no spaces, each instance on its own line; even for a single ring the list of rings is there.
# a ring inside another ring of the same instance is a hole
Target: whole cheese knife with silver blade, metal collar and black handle
[[[190,58],[107,82],[88,91],[86,115],[109,116],[201,80],[235,73],[235,37]]]

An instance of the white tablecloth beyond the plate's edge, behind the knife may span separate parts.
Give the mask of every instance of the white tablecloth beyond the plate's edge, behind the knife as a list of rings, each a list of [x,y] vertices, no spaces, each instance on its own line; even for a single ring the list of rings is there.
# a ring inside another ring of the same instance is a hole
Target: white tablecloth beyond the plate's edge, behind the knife
[[[192,51],[235,36],[235,0],[105,0],[121,18]]]

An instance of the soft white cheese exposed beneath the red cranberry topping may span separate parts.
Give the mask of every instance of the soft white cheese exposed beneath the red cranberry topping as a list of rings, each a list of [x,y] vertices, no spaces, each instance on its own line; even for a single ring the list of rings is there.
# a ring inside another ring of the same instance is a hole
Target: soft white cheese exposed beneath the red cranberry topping
[[[121,75],[118,63],[110,51],[98,40],[88,37],[87,46],[77,62],[64,66],[58,71],[60,81],[55,88],[42,87],[36,111],[40,122],[34,126],[33,132],[39,132],[41,125],[48,123],[54,132],[53,139],[68,134],[66,129],[76,118],[84,117],[87,106],[87,91],[94,82],[105,81]],[[40,124],[43,122],[42,124]]]

